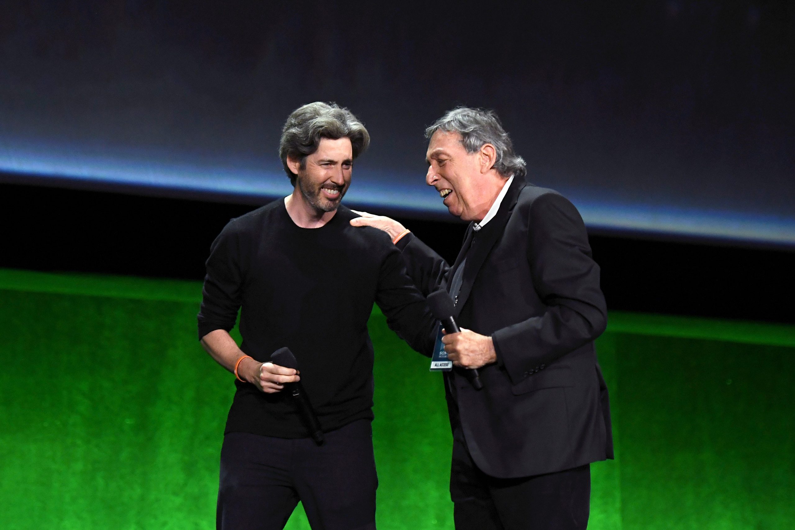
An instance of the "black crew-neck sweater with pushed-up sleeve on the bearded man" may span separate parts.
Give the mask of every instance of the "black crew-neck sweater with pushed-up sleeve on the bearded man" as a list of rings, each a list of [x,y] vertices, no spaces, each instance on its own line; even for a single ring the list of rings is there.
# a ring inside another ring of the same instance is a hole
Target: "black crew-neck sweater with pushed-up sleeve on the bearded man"
[[[341,206],[324,226],[301,228],[277,200],[232,219],[211,246],[198,315],[201,338],[231,330],[242,307],[241,349],[259,362],[288,346],[324,431],[373,417],[373,303],[415,350],[429,355],[435,338],[401,253],[381,230],[351,226],[355,217]],[[285,393],[235,385],[225,432],[308,436]]]

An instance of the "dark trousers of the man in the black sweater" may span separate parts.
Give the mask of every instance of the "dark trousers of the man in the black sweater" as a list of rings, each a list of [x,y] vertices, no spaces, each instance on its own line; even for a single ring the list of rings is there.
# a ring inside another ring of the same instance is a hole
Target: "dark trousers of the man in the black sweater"
[[[370,420],[310,438],[230,432],[223,437],[216,528],[281,530],[298,501],[312,530],[375,528]]]

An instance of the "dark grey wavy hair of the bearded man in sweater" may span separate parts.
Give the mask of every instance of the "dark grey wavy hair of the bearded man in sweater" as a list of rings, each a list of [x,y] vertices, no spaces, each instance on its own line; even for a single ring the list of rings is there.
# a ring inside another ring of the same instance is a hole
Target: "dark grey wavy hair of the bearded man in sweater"
[[[306,157],[317,150],[322,138],[337,140],[343,137],[350,138],[354,158],[370,145],[370,133],[359,118],[336,103],[316,101],[293,110],[281,128],[279,141],[279,157],[290,177],[290,184],[295,186],[297,175],[287,166],[287,157],[299,159],[301,169],[304,169]]]

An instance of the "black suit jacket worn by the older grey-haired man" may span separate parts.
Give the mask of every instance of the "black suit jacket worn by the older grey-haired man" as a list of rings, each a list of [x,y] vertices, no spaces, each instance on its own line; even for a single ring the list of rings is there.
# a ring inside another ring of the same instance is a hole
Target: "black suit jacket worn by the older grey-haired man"
[[[498,478],[551,473],[613,458],[607,387],[594,339],[607,325],[599,265],[583,220],[556,191],[515,178],[497,215],[471,224],[449,267],[409,234],[397,242],[417,286],[446,288],[471,242],[456,321],[491,335],[498,362],[475,390],[445,373],[453,432],[477,466]]]

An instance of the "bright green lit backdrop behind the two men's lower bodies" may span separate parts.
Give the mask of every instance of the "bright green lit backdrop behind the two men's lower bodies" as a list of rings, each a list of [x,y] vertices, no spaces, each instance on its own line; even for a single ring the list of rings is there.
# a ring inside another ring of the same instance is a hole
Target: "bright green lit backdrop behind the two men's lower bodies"
[[[200,284],[0,270],[0,528],[214,528]],[[452,528],[440,375],[370,319],[379,528]],[[589,528],[795,528],[795,327],[614,312]],[[288,528],[308,528],[301,510]]]

